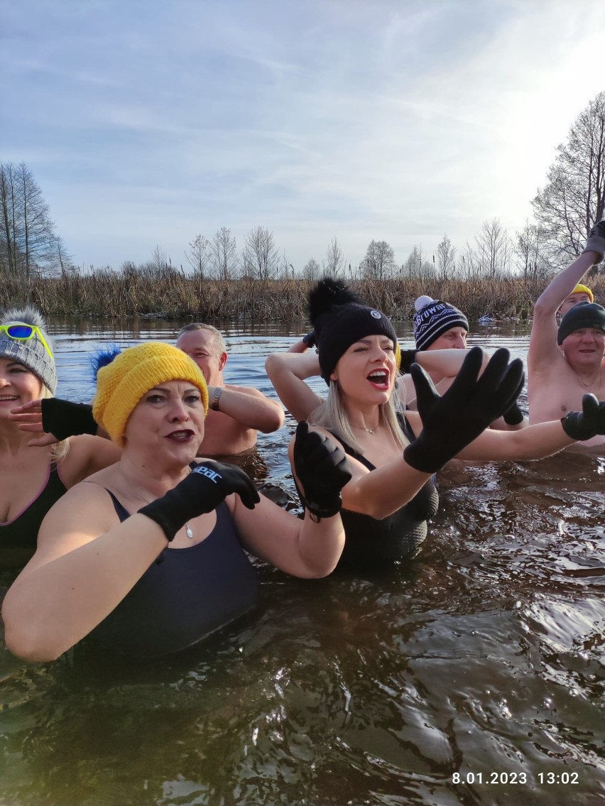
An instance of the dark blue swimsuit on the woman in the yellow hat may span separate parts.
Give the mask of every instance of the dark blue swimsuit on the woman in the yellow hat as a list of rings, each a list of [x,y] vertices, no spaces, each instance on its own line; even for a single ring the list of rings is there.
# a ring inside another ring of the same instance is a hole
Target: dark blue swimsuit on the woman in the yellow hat
[[[110,492],[109,490],[107,492]],[[120,521],[130,514],[110,492]],[[238,540],[227,505],[205,540],[168,548],[120,604],[90,633],[118,654],[151,657],[193,646],[252,609],[255,567]]]

